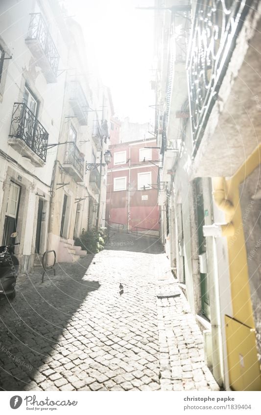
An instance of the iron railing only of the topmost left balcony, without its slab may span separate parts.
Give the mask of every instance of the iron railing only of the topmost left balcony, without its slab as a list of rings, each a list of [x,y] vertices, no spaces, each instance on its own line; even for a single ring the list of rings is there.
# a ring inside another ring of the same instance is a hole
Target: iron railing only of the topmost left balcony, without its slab
[[[27,39],[38,40],[53,70],[53,73],[57,75],[59,58],[60,58],[59,53],[49,34],[47,25],[41,13],[31,14],[31,20],[29,24]]]

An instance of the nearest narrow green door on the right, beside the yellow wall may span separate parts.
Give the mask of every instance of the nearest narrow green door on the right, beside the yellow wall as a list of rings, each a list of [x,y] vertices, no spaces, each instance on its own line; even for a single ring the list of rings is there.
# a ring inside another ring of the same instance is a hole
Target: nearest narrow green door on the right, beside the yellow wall
[[[195,202],[197,207],[197,232],[198,232],[198,254],[206,253],[206,239],[203,236],[203,225],[205,224],[204,199],[201,179],[195,180]],[[210,320],[210,302],[209,302],[209,285],[208,274],[200,273],[200,290],[201,290],[201,312]]]

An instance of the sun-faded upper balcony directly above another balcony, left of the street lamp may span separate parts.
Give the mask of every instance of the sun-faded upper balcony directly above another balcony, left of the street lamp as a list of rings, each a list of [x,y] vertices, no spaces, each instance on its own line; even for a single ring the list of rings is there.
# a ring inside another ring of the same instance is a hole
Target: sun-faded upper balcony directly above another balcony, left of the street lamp
[[[79,81],[70,82],[69,101],[73,109],[74,115],[78,118],[79,124],[88,124],[88,102]]]

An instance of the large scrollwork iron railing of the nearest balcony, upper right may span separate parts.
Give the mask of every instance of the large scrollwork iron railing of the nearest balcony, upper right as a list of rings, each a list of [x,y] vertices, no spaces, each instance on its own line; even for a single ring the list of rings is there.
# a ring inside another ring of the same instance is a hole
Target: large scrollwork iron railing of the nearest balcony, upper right
[[[200,0],[196,3],[188,53],[194,154],[251,3],[252,0]]]

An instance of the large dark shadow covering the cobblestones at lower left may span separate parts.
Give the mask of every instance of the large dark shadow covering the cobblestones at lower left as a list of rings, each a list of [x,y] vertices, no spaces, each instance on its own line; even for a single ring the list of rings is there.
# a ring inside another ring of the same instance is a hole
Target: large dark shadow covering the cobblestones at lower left
[[[65,328],[69,327],[76,337],[80,325],[73,315],[88,294],[100,286],[97,281],[83,280],[93,257],[87,255],[73,264],[56,264],[57,275],[46,276],[44,284],[40,283],[41,273],[35,272],[20,285],[13,302],[0,302],[1,390],[24,390],[36,373],[39,377],[39,368],[50,356],[58,359],[57,344],[66,341]],[[68,354],[64,350],[61,364]]]

